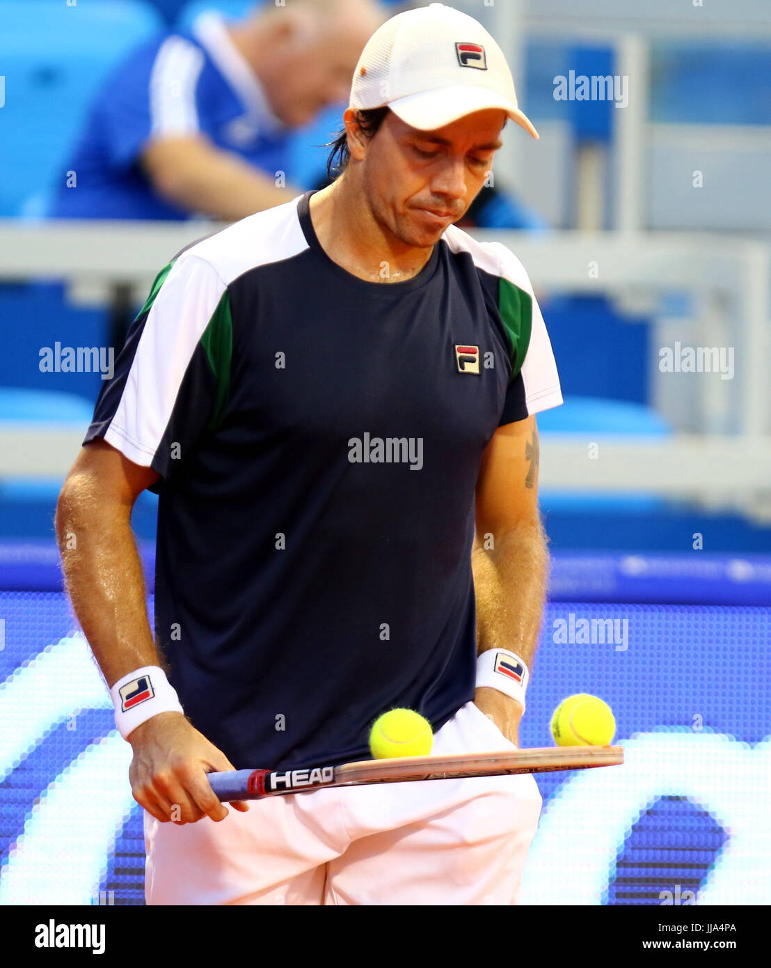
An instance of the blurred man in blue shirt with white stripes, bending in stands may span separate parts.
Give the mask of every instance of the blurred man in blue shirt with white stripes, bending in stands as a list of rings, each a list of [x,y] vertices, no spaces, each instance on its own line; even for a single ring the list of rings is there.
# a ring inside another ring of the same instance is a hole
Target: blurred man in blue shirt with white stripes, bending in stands
[[[347,97],[375,0],[292,0],[135,50],[104,83],[49,215],[244,218],[296,197],[295,129]]]

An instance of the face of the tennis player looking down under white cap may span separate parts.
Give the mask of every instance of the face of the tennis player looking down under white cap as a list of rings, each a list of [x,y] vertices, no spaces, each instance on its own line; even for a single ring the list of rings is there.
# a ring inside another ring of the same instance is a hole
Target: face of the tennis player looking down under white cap
[[[390,111],[362,142],[365,191],[377,223],[407,246],[433,245],[485,184],[505,121],[505,111],[495,108],[418,131]]]

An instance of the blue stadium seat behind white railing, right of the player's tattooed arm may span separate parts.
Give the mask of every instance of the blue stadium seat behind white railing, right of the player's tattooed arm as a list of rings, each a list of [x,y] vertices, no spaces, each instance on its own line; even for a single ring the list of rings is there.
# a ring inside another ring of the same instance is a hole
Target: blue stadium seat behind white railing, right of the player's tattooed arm
[[[538,429],[544,448],[549,447],[550,434],[577,435],[585,440],[606,437],[667,437],[671,428],[667,421],[643,404],[601,397],[565,397],[562,407],[545,410],[537,416]],[[616,495],[592,491],[556,491],[542,488],[544,510],[586,512],[607,511],[647,512],[667,506],[666,501],[644,492]]]

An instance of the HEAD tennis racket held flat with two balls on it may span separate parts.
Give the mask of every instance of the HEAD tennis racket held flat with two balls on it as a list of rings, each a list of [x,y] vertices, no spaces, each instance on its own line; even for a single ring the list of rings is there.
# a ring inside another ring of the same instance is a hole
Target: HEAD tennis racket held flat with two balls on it
[[[453,753],[449,756],[402,756],[362,760],[337,767],[307,770],[231,770],[209,773],[212,789],[222,802],[261,800],[321,787],[404,783],[414,780],[497,776],[502,773],[545,773],[615,767],[624,762],[620,746],[552,746],[498,753]]]

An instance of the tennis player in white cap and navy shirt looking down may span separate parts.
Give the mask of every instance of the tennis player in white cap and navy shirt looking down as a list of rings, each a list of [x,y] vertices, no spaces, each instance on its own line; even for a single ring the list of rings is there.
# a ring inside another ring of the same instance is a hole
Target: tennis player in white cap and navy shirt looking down
[[[453,226],[508,118],[535,135],[476,20],[392,17],[340,177],[167,265],[104,386],[57,530],[133,747],[150,904],[518,898],[532,776],[230,811],[206,778],[369,758],[394,707],[437,754],[518,743],[548,562],[535,414],[561,396],[519,260]],[[147,488],[155,637],[130,527]]]

